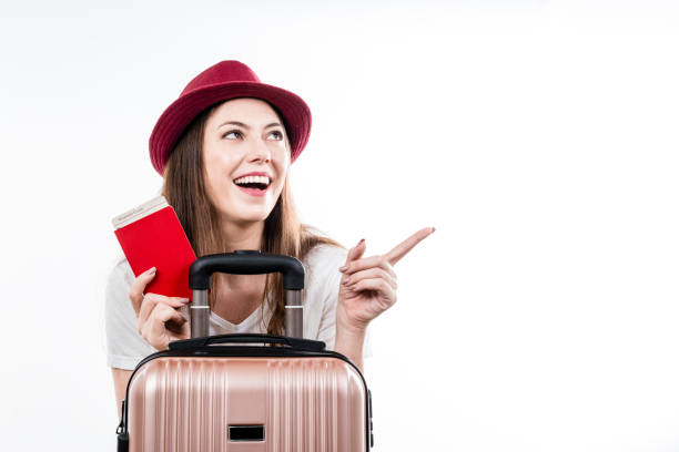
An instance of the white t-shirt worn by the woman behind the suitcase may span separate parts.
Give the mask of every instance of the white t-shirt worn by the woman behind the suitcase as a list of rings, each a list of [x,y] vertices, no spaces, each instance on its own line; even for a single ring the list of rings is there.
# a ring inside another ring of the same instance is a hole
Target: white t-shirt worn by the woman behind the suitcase
[[[317,245],[302,260],[305,288],[302,291],[304,305],[304,338],[322,340],[326,349],[335,346],[335,310],[342,274],[338,268],[346,261],[347,251],[332,245]],[[156,352],[138,331],[138,321],[129,292],[134,274],[122,256],[109,275],[107,284],[107,355],[110,367],[134,369],[139,361]],[[188,318],[188,307],[182,308]],[[240,323],[232,323],[214,312],[210,315],[210,335],[236,332],[266,332],[271,317],[268,302],[264,302]],[[363,357],[372,356],[369,333],[366,332]]]

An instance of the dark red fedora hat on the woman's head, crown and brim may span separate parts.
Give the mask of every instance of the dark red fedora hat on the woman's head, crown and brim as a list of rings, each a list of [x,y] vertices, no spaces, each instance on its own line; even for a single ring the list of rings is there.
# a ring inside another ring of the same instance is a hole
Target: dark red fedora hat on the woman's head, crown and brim
[[[240,61],[222,61],[193,79],[179,99],[160,116],[149,152],[155,171],[163,175],[165,163],[184,129],[206,107],[235,97],[256,97],[275,106],[283,115],[294,162],[308,141],[311,111],[298,95],[260,82],[260,78]]]

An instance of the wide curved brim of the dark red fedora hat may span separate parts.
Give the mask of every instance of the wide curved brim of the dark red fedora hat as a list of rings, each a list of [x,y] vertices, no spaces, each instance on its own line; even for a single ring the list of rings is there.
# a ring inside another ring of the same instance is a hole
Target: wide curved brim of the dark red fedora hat
[[[165,163],[184,129],[206,107],[235,97],[255,97],[270,102],[283,115],[291,144],[291,163],[304,150],[311,133],[311,111],[298,95],[260,82],[230,82],[202,86],[182,94],[160,116],[151,137],[151,163],[163,175]]]

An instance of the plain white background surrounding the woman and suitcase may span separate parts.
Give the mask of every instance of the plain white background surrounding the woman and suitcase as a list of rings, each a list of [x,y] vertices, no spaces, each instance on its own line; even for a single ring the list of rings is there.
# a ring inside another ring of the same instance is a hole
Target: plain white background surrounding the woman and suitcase
[[[305,223],[437,228],[371,327],[375,451],[679,450],[678,7],[196,3],[2,2],[4,450],[113,450],[110,219],[227,59],[312,109]]]

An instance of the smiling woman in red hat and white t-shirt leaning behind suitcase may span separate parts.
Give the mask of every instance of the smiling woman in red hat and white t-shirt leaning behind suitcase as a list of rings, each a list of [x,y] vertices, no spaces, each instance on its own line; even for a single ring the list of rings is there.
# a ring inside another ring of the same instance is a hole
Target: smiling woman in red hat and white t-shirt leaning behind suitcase
[[[223,61],[191,81],[161,115],[151,160],[196,256],[260,249],[301,259],[307,273],[304,337],[325,341],[363,369],[367,325],[396,301],[393,265],[434,230],[362,258],[364,240],[347,253],[300,224],[287,173],[310,131],[302,99],[261,83],[237,61]],[[109,278],[109,364],[119,407],[136,363],[190,336],[189,300],[144,294],[154,271],[135,278],[121,259]],[[285,332],[280,275],[214,275],[210,306],[211,335]]]

